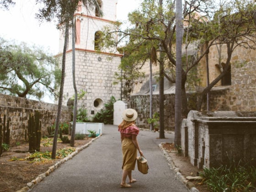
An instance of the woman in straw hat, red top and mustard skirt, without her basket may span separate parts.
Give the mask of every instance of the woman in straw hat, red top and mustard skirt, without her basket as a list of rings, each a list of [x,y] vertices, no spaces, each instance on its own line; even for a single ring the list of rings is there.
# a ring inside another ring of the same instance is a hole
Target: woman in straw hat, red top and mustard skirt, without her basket
[[[118,126],[118,131],[121,133],[123,152],[123,176],[121,187],[132,187],[126,183],[126,178],[127,176],[129,177],[129,183],[136,182],[136,179],[133,179],[132,177],[132,170],[134,170],[136,164],[137,149],[139,150],[139,154],[143,155],[137,141],[139,128],[135,125],[138,113],[134,109],[126,109],[123,111],[122,117],[123,122]]]

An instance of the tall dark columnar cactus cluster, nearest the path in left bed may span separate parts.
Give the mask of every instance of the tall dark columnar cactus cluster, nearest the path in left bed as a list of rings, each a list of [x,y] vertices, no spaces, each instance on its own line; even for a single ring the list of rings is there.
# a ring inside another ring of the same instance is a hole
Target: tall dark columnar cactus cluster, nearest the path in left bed
[[[30,115],[28,119],[28,145],[29,151],[40,151],[41,142],[41,121],[39,121],[40,113],[37,111],[35,116]]]

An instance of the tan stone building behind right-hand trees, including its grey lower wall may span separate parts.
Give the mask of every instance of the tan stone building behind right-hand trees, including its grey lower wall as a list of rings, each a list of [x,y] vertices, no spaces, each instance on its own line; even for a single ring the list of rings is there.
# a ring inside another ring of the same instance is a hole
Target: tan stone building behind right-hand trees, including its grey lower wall
[[[226,55],[225,46],[222,47],[221,55],[217,46],[209,51],[209,80],[213,81],[219,74],[219,57],[224,62]],[[130,107],[139,111],[138,124],[142,128],[149,128],[149,65],[142,69],[145,73],[143,78],[131,82]],[[153,73],[158,76],[159,67],[153,66]],[[230,73],[220,80],[209,93],[210,111],[256,111],[256,50],[244,47],[235,48],[230,61]],[[206,86],[206,61],[202,59],[197,66],[197,74],[200,77],[201,88]],[[154,76],[153,75],[153,76]],[[166,81],[166,80],[165,80]],[[157,81],[153,81],[153,113],[159,112],[159,90]],[[198,90],[195,90],[198,91]],[[175,85],[165,82],[165,130],[174,130],[174,106]],[[195,97],[190,99],[191,92],[187,92],[188,102],[195,102]],[[193,92],[194,93],[194,92]],[[189,108],[191,109],[191,108]],[[206,101],[202,109],[206,110]]]

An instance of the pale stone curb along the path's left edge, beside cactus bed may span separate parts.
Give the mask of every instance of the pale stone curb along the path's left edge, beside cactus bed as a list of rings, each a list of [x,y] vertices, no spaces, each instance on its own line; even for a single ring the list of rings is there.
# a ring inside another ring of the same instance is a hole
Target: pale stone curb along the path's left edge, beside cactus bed
[[[57,169],[61,164],[63,164],[64,162],[72,159],[75,155],[77,155],[81,150],[85,149],[86,147],[88,147],[95,139],[98,139],[102,134],[100,134],[99,136],[97,136],[96,138],[91,139],[90,142],[88,142],[85,145],[82,145],[81,147],[77,147],[75,149],[75,151],[71,154],[69,154],[68,156],[66,156],[65,158],[59,160],[57,163],[55,163],[54,165],[50,166],[49,169],[45,172],[40,174],[39,176],[37,176],[36,179],[32,180],[31,182],[27,183],[26,187],[22,187],[20,190],[16,191],[16,192],[28,192],[31,191],[33,187],[35,187],[37,185],[37,183],[43,181],[43,178],[50,175],[51,172],[53,172],[55,169]]]

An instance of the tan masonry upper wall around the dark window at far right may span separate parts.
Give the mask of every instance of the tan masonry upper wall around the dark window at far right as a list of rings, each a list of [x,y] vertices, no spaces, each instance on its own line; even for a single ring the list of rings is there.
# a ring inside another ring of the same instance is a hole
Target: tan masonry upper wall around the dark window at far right
[[[222,47],[222,62],[226,59],[226,48]],[[218,50],[215,46],[209,53],[209,71],[210,82],[219,75],[219,69],[216,67],[219,61]],[[231,111],[256,111],[256,50],[250,50],[242,47],[235,48],[232,54],[231,63],[231,85],[220,86],[228,89],[227,95],[222,96],[226,99],[226,107]],[[205,70],[205,62],[202,61],[201,71]],[[204,73],[206,76],[206,73]],[[201,76],[202,82],[206,85],[206,78]],[[216,86],[215,86],[216,87]],[[220,97],[220,96],[219,96]],[[214,108],[211,108],[214,110]]]

